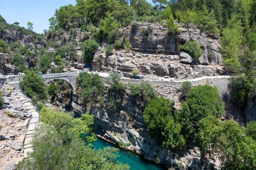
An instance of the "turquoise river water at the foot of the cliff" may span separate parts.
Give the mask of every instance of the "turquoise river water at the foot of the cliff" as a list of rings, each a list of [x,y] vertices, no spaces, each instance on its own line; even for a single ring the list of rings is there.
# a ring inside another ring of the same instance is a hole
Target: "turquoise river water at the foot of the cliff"
[[[103,149],[104,147],[115,147],[114,145],[100,138],[97,138],[97,140],[92,145],[96,150]],[[141,156],[130,151],[119,149],[118,155],[119,157],[117,157],[116,161],[119,161],[123,164],[128,164],[130,166],[130,170],[165,170],[163,167],[153,162],[149,162],[143,159]]]

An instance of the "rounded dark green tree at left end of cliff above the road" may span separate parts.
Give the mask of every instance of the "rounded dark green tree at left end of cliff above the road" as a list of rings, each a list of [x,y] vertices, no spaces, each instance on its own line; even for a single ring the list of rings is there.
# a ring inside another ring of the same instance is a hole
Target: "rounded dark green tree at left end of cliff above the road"
[[[98,49],[98,43],[94,39],[87,39],[82,44],[83,61],[90,62],[93,60],[95,51]]]

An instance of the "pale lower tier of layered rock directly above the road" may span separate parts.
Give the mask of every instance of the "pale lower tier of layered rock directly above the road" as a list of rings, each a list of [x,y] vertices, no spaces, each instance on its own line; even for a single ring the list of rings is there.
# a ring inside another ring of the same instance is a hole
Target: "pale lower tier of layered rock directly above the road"
[[[100,67],[92,67],[95,71],[116,72],[129,77],[132,70],[147,75],[170,76],[176,79],[189,79],[201,76],[223,75],[225,69],[219,65],[185,64],[190,61],[189,55],[181,53],[182,57],[172,54],[144,54],[137,52],[115,51],[105,57]],[[186,58],[184,58],[186,57]],[[95,61],[96,62],[96,61]]]

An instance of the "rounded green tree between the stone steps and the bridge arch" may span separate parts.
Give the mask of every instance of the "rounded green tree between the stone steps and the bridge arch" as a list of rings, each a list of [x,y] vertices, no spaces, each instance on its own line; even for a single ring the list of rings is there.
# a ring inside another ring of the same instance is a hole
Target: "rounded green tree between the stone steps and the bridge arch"
[[[28,97],[36,97],[38,99],[47,98],[47,90],[44,80],[34,70],[26,70],[20,87]]]

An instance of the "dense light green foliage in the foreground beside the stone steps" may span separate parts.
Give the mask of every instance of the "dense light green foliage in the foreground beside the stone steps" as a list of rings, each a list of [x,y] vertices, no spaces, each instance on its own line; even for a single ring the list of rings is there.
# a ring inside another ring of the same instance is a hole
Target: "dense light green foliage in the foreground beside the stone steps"
[[[115,162],[118,149],[94,150],[93,116],[82,114],[73,118],[69,113],[42,108],[41,121],[34,133],[33,152],[18,164],[18,170],[128,170]]]

